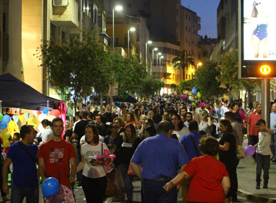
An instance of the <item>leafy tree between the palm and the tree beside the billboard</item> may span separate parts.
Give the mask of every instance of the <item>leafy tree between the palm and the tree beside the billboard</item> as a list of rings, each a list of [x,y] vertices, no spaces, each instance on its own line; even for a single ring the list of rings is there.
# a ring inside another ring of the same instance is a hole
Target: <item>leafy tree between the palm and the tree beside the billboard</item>
[[[218,97],[226,92],[219,87],[219,81],[215,79],[217,76],[219,71],[215,61],[207,61],[195,72],[195,87],[200,90],[202,97]]]

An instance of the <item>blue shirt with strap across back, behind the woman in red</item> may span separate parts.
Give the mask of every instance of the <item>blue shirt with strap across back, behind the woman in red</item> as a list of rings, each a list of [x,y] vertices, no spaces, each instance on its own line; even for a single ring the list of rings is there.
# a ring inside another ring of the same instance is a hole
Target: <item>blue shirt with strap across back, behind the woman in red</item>
[[[197,152],[199,156],[201,156],[201,152],[199,150],[199,139],[202,137],[202,135],[195,131],[191,131],[190,134],[193,136],[193,139],[195,140],[195,146],[197,147]],[[184,150],[186,151],[189,160],[192,160],[194,157],[197,157],[197,153],[195,152],[195,146],[193,144],[192,139],[190,139],[189,134],[181,137],[180,144],[184,146]]]

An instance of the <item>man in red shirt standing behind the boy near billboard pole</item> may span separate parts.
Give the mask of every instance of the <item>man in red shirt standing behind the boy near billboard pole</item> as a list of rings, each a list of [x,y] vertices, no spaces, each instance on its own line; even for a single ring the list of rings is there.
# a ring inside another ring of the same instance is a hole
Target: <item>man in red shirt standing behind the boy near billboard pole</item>
[[[247,135],[248,137],[248,145],[254,146],[259,142],[259,131],[256,127],[256,122],[259,119],[262,119],[261,111],[262,111],[262,104],[256,104],[256,110],[250,114],[248,121],[247,121]],[[255,154],[253,155],[255,160]]]

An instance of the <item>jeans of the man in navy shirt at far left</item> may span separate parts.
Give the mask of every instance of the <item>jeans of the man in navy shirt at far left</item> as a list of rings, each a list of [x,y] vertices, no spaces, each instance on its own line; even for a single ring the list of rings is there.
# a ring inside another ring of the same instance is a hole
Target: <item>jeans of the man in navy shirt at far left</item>
[[[22,203],[26,197],[26,203],[39,203],[39,186],[24,187],[12,185],[10,203]]]

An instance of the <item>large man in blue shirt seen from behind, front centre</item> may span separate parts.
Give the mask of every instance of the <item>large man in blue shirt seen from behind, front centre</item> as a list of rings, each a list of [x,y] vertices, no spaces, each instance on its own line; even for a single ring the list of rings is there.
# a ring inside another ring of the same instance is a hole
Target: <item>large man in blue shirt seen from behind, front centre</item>
[[[142,180],[144,203],[177,202],[177,187],[166,192],[166,182],[177,175],[179,168],[184,168],[188,157],[177,140],[172,139],[172,124],[160,122],[157,135],[144,139],[132,156],[130,166]],[[141,170],[140,166],[143,166]]]

